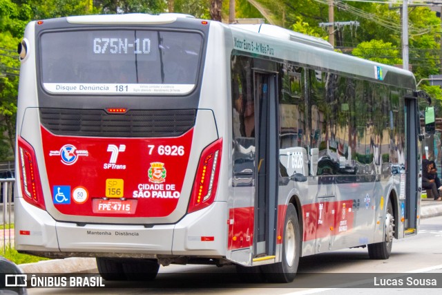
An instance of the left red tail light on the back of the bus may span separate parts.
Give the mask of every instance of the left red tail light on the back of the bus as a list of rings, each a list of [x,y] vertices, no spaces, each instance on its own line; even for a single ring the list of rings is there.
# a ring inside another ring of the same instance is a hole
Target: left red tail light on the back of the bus
[[[32,146],[21,137],[19,137],[18,142],[23,199],[40,209],[46,210],[35,151]]]

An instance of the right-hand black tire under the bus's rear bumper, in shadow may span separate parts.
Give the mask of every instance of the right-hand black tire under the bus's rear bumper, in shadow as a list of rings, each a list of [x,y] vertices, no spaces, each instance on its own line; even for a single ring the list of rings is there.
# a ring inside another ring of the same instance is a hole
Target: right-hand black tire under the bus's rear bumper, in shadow
[[[155,259],[127,259],[123,271],[127,280],[154,280],[160,265]]]

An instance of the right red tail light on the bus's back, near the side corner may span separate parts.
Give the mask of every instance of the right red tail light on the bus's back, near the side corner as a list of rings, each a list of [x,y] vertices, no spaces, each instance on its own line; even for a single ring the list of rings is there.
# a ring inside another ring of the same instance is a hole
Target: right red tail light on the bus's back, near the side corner
[[[188,213],[209,207],[215,200],[222,152],[222,138],[211,143],[202,151],[193,182]]]

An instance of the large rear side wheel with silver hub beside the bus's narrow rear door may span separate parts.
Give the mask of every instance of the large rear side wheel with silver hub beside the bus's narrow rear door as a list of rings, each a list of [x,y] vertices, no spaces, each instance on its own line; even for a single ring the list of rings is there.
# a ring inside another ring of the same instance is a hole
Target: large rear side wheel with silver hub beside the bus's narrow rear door
[[[282,261],[271,265],[263,265],[269,283],[290,283],[298,271],[300,256],[300,227],[298,214],[293,204],[287,206],[282,239]]]

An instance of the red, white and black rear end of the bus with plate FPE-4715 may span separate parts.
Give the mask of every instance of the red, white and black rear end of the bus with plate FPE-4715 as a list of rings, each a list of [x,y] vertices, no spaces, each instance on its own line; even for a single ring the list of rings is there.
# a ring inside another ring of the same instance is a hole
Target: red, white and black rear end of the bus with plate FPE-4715
[[[28,25],[17,250],[163,264],[225,255],[223,141],[213,111],[199,109],[208,35],[206,21],[168,15]]]

